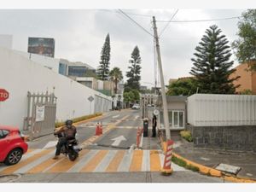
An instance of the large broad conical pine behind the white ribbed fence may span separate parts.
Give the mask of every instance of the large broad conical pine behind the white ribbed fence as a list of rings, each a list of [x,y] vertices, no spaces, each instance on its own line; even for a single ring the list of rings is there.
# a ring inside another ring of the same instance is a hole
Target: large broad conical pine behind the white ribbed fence
[[[221,34],[218,26],[210,26],[201,42],[196,46],[195,58],[190,74],[195,75],[200,93],[232,94],[236,87],[232,82],[240,77],[230,79],[236,69],[230,69],[229,41]]]

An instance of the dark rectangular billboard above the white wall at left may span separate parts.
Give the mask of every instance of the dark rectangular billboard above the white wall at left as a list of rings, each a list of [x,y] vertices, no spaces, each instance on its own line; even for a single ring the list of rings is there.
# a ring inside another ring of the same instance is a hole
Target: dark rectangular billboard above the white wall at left
[[[54,38],[28,38],[28,53],[55,57]]]

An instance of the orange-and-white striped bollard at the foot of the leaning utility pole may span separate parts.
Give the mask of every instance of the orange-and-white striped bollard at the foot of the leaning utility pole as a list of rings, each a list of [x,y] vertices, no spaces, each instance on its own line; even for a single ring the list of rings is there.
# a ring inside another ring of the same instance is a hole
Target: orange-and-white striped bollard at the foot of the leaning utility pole
[[[167,140],[166,142],[166,156],[163,168],[161,169],[161,172],[166,175],[170,175],[173,172],[172,169],[172,149],[173,149],[173,141]]]

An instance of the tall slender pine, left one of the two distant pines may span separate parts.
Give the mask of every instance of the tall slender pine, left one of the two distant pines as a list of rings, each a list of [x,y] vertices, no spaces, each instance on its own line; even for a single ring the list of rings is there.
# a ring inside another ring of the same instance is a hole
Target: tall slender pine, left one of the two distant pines
[[[102,55],[100,66],[97,69],[97,76],[99,79],[108,80],[108,73],[109,73],[109,61],[110,61],[110,38],[109,33],[105,39],[105,43],[102,47]]]

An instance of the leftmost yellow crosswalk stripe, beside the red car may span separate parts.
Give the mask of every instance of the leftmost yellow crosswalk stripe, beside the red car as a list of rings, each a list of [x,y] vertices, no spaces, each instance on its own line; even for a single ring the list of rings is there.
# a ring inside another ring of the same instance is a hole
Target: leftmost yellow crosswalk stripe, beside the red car
[[[3,170],[3,172],[1,172],[1,173],[3,173],[3,174],[13,173],[13,172],[17,171],[18,169],[20,169],[21,167],[32,163],[32,161],[38,160],[39,158],[44,156],[44,154],[49,154],[50,151],[52,151],[52,150],[43,150],[42,152],[40,152],[38,154],[34,154],[34,155],[32,155],[32,157],[28,158],[27,160],[20,161],[18,164],[14,165],[14,166],[9,166],[7,169]]]

